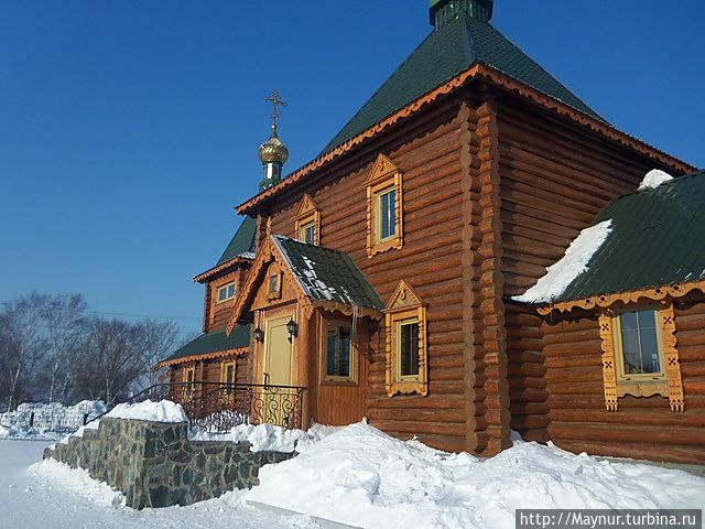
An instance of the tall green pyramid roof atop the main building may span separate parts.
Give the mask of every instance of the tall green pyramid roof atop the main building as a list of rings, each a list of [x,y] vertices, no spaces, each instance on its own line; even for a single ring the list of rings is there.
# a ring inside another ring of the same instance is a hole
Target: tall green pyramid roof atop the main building
[[[328,143],[330,151],[444,82],[482,63],[605,121],[487,22],[462,11],[434,30]]]

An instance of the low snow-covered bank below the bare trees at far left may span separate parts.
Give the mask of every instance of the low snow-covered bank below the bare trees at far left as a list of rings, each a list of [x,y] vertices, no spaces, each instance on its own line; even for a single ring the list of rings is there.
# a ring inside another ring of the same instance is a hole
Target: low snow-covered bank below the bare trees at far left
[[[83,400],[75,406],[25,402],[14,411],[0,413],[0,439],[55,441],[83,425],[84,418],[91,420],[105,411],[106,406],[94,400]],[[30,428],[32,413],[34,422]]]

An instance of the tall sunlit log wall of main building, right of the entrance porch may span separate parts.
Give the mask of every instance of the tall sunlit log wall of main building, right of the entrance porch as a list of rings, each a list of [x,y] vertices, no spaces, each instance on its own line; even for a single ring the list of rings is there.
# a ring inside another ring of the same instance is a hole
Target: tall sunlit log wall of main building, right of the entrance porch
[[[403,173],[404,246],[368,259],[365,182],[380,152]],[[293,237],[295,214],[304,193],[322,212],[322,246],[347,252],[387,301],[400,280],[414,287],[429,304],[429,397],[389,398],[384,387],[383,331],[370,344],[367,417],[370,423],[402,439],[417,435],[444,450],[466,445],[463,356],[463,208],[460,191],[460,120],[448,102],[390,133],[383,144],[358,152],[335,175],[324,173],[272,212],[272,230]],[[333,171],[328,169],[327,171]],[[362,370],[361,370],[362,373]],[[315,419],[315,418],[314,418]]]

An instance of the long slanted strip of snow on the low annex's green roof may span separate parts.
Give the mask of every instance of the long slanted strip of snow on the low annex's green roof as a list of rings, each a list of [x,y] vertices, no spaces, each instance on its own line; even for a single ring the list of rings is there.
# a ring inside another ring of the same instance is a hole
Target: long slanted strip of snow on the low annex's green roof
[[[579,274],[587,271],[587,263],[611,233],[611,219],[585,228],[571,242],[560,261],[546,268],[536,284],[512,299],[524,303],[550,303],[561,295]]]

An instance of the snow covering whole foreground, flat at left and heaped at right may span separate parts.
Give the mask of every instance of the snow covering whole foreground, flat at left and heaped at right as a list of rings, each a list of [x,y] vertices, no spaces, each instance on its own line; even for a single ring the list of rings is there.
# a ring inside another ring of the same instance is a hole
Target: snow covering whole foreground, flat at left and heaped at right
[[[44,443],[0,441],[0,527],[303,529],[317,527],[310,517],[319,517],[365,529],[510,529],[519,508],[705,508],[705,478],[520,439],[485,461],[399,441],[365,422],[308,432],[242,427],[229,434],[289,450],[292,435],[300,455],[262,467],[252,490],[143,511],[126,508],[120,493],[83,471],[35,463]],[[281,517],[246,500],[306,516]]]

